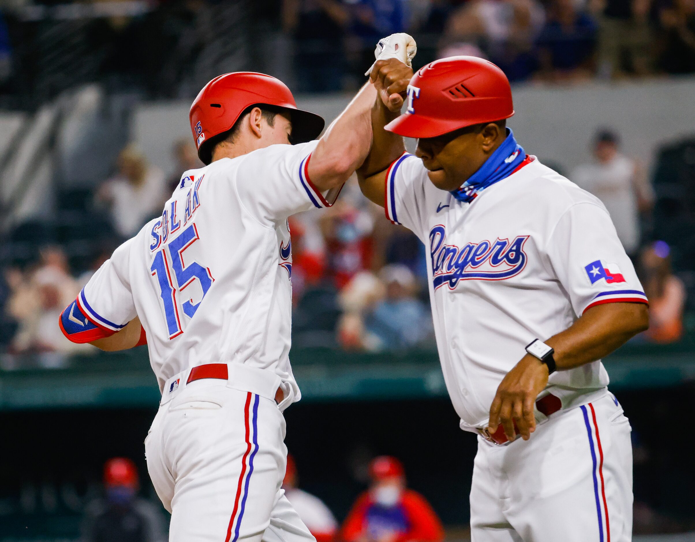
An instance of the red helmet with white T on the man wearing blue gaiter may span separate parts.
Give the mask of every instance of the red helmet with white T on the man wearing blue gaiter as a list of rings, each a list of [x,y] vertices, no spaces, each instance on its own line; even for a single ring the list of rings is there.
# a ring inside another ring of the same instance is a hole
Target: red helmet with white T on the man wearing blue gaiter
[[[407,113],[386,125],[407,138],[434,138],[514,115],[507,76],[475,56],[435,60],[414,74],[407,92]]]

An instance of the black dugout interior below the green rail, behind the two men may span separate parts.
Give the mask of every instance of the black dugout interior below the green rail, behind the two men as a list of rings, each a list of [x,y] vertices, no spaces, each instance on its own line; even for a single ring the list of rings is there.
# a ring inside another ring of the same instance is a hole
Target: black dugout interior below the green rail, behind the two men
[[[635,436],[635,497],[687,521],[695,509],[692,386],[620,393]],[[101,466],[122,455],[149,484],[143,441],[154,409],[0,414],[0,534],[74,536],[81,507],[98,494]],[[393,454],[409,483],[447,525],[468,523],[475,436],[458,428],[448,400],[300,402],[286,411],[288,450],[300,485],[342,520],[365,488],[365,466]]]

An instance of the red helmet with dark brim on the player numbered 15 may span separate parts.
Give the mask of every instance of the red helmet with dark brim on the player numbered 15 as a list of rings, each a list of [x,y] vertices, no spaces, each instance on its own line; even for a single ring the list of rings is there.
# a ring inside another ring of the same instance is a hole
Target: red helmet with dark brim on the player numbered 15
[[[297,109],[290,89],[275,77],[255,72],[220,75],[203,87],[188,114],[198,156],[204,164],[212,161],[211,139],[231,129],[243,110],[255,105],[290,110],[293,143],[316,139],[325,124],[320,116]]]

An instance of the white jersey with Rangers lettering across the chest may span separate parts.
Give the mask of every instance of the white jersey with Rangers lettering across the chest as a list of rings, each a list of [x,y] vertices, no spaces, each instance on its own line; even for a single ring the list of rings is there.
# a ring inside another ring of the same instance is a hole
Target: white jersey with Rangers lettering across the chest
[[[463,429],[486,425],[532,340],[598,304],[647,302],[605,206],[533,156],[468,204],[404,154],[386,174],[385,208],[425,243],[439,358]],[[595,361],[555,372],[548,386],[577,406],[607,384]]]

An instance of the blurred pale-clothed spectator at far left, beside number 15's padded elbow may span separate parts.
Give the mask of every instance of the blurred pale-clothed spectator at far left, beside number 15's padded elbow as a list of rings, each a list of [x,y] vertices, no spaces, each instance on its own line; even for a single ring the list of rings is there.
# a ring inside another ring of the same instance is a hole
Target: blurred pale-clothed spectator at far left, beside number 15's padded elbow
[[[90,345],[78,345],[67,340],[58,327],[63,309],[74,301],[79,287],[69,274],[67,258],[59,247],[47,247],[41,252],[40,266],[28,276],[18,270],[8,274],[12,297],[8,302],[10,315],[19,322],[13,340],[14,352],[85,352]],[[46,358],[45,363],[60,360]]]

